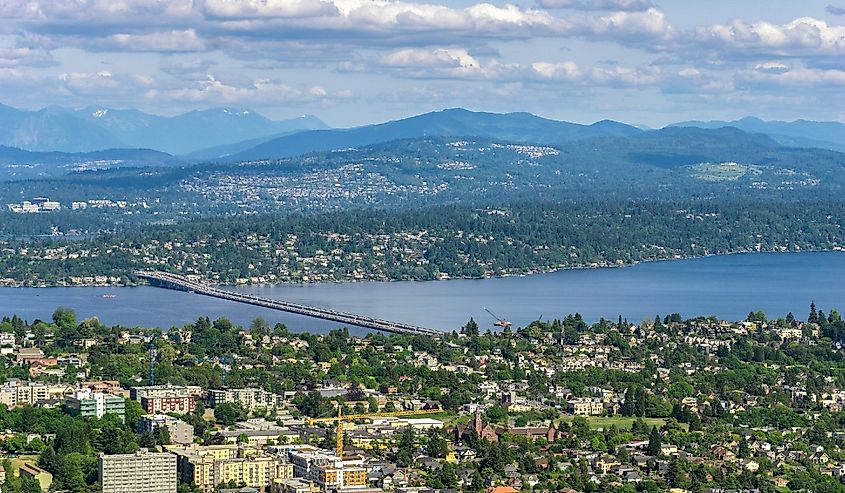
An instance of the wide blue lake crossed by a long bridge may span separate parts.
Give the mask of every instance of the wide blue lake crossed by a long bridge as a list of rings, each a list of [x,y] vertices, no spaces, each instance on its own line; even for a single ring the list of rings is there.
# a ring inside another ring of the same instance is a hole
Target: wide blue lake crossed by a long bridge
[[[716,315],[745,319],[792,311],[807,316],[810,302],[828,312],[845,310],[845,252],[757,253],[644,263],[631,267],[565,270],[497,279],[430,282],[360,282],[231,288],[388,320],[457,330],[469,317],[482,327],[495,321],[484,308],[523,326],[540,317],[578,312],[587,321],[619,315],[632,322],[656,314]],[[103,298],[113,294],[113,298]],[[181,326],[208,315],[244,325],[255,317],[291,330],[325,332],[337,324],[201,295],[161,288],[0,288],[0,314],[49,319],[59,306],[82,319],[126,326]],[[352,330],[363,333],[363,329]]]

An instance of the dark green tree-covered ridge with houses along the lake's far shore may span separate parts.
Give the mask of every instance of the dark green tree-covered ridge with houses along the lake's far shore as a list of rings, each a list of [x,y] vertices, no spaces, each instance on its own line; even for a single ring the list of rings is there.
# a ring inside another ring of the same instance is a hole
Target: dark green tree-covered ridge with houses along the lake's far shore
[[[840,202],[532,202],[246,216],[79,242],[8,242],[0,278],[70,283],[136,269],[212,282],[481,277],[726,254],[830,250]],[[12,281],[7,281],[12,282]]]

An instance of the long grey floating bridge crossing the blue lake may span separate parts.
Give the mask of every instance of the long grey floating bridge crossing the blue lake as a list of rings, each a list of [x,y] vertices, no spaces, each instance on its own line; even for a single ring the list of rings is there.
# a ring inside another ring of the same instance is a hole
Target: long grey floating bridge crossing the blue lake
[[[381,330],[384,332],[392,332],[395,334],[412,334],[412,335],[426,335],[432,337],[439,337],[443,332],[425,327],[418,327],[416,325],[405,324],[400,322],[390,322],[388,320],[381,320],[378,318],[367,317],[363,315],[355,315],[354,313],[341,312],[337,310],[327,310],[325,308],[317,308],[299,303],[291,303],[288,301],[273,300],[269,298],[262,298],[259,296],[252,296],[249,294],[235,293],[218,289],[208,284],[191,281],[182,276],[170,274],[168,272],[160,271],[137,271],[135,275],[150,281],[151,284],[157,284],[164,288],[176,289],[179,291],[189,291],[214,298],[224,300],[237,301],[239,303],[247,303],[250,305],[260,306],[263,308],[271,308],[283,312],[296,313],[298,315],[305,315],[307,317],[320,318],[323,320],[330,320],[332,322],[340,322],[343,324],[357,325],[368,329]]]

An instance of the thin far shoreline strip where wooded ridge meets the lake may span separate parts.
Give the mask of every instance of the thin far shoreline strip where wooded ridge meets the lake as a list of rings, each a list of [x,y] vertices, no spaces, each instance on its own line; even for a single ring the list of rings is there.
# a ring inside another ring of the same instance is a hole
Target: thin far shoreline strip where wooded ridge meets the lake
[[[843,253],[845,252],[845,247],[842,246],[835,246],[829,249],[808,249],[808,250],[799,250],[799,251],[735,251],[735,252],[725,252],[725,253],[708,253],[706,255],[683,255],[683,256],[672,256],[666,258],[655,258],[655,259],[647,259],[647,260],[638,260],[635,262],[630,263],[615,263],[615,262],[606,262],[606,263],[592,263],[589,265],[576,265],[576,266],[563,266],[563,267],[552,267],[552,268],[536,268],[536,269],[529,269],[525,272],[513,272],[513,273],[504,273],[499,275],[483,275],[479,277],[447,277],[441,279],[379,279],[379,278],[372,278],[372,279],[347,279],[347,280],[338,280],[338,281],[331,281],[331,280],[319,280],[313,282],[264,282],[264,283],[222,283],[222,284],[210,284],[211,286],[215,287],[248,287],[248,286],[314,286],[318,284],[358,284],[358,283],[372,283],[372,282],[380,282],[380,283],[392,283],[392,282],[442,282],[442,281],[457,281],[457,280],[484,280],[484,279],[504,279],[510,277],[528,277],[538,274],[553,274],[555,272],[562,272],[562,271],[570,271],[570,270],[597,270],[597,269],[619,269],[619,268],[626,268],[626,267],[635,267],[641,264],[650,264],[656,262],[673,262],[678,260],[695,260],[695,259],[703,259],[703,258],[710,258],[710,257],[726,257],[731,255],[760,255],[760,254],[800,254],[800,253]],[[77,277],[77,276],[74,276]],[[83,277],[97,277],[97,276],[83,276]],[[102,276],[102,277],[109,277],[109,276]],[[150,286],[147,282],[139,282],[139,283],[131,283],[131,284],[121,284],[121,283],[83,283],[83,284],[70,284],[70,283],[44,283],[44,284],[24,284],[24,283],[16,283],[16,284],[8,284],[8,285],[0,285],[0,288],[30,288],[30,289],[48,289],[48,288],[127,288],[127,287],[140,287],[140,286]]]

